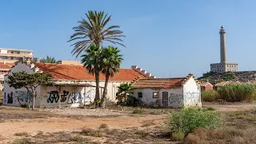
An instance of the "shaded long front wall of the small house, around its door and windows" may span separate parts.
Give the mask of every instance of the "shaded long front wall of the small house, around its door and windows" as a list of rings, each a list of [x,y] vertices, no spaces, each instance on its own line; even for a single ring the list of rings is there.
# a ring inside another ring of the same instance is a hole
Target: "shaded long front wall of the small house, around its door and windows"
[[[138,98],[138,92],[142,92],[142,98]],[[159,98],[153,98],[153,92],[158,92]],[[180,89],[135,89],[134,98],[141,99],[146,105],[152,106],[157,101],[162,106],[162,92],[168,93],[168,107],[179,108],[183,106],[182,88]]]

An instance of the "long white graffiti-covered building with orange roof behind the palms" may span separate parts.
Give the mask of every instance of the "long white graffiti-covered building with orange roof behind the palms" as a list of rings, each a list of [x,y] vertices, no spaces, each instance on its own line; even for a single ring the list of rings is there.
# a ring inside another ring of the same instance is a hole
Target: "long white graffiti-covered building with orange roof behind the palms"
[[[118,74],[110,78],[106,98],[111,102],[116,101],[116,93],[120,84],[131,83],[139,78],[150,78],[146,76],[150,74],[143,74],[145,70],[142,72],[134,68],[120,69]],[[95,78],[83,66],[18,62],[16,66],[10,69],[8,75],[22,70],[28,74],[36,72],[52,74],[51,81],[54,82],[54,86],[38,86],[36,90],[35,106],[37,107],[78,107],[94,102]],[[8,75],[5,75],[5,80],[7,80]],[[26,89],[16,90],[6,82],[4,85],[3,105],[22,106],[26,104],[28,96]],[[102,97],[104,85],[105,76],[100,74],[100,97]],[[30,101],[32,102],[32,98]]]

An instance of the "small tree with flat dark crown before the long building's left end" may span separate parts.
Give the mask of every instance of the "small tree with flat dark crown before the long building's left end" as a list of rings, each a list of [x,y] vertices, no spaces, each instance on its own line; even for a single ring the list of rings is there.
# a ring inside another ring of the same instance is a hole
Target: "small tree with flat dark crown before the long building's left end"
[[[13,73],[12,75],[8,75],[8,80],[6,81],[10,87],[14,87],[15,89],[21,89],[22,87],[26,88],[27,96],[27,106],[30,109],[30,92],[33,94],[33,103],[32,109],[34,109],[34,98],[35,98],[35,90],[38,86],[52,86],[53,83],[49,80],[51,79],[50,74],[44,73],[34,73],[27,74],[26,71],[19,71],[17,73]]]

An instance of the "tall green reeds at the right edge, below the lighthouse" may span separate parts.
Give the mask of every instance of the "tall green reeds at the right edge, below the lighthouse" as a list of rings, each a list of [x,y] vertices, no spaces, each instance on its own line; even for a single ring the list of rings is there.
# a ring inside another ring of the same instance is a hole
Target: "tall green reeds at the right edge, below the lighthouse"
[[[226,85],[218,90],[218,94],[226,102],[253,102],[255,90],[255,86],[249,84]]]

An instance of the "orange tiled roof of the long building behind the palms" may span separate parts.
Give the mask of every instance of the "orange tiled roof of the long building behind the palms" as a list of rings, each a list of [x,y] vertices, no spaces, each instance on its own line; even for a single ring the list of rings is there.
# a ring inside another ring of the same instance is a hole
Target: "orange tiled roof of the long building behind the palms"
[[[34,63],[35,66],[46,74],[52,74],[52,79],[56,80],[94,80],[95,76],[89,74],[83,66],[64,65],[64,64],[49,64],[49,63]],[[110,81],[133,81],[134,78],[140,76],[146,78],[132,69],[120,69],[118,74],[110,78]],[[105,80],[105,75],[100,74],[100,80]]]

